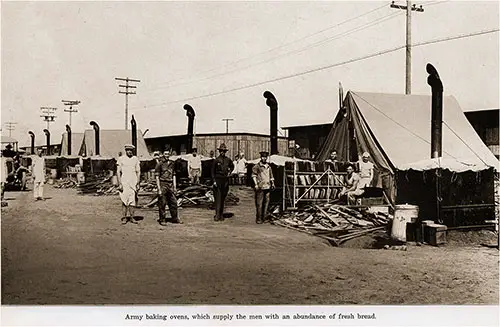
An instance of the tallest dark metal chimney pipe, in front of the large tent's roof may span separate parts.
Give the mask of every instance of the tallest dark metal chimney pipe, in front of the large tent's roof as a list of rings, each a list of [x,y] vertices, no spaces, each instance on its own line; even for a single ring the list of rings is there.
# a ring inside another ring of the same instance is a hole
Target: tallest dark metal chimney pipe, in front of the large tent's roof
[[[431,117],[431,158],[442,156],[443,141],[443,83],[439,74],[431,64],[426,66],[427,84],[432,90],[432,117]]]

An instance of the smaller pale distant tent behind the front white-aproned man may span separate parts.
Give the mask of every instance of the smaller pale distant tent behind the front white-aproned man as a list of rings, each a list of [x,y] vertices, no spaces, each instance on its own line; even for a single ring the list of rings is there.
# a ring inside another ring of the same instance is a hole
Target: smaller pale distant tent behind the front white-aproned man
[[[99,132],[99,155],[103,158],[118,158],[118,153],[124,153],[124,145],[132,143],[132,132],[130,130],[100,130]],[[86,130],[83,136],[78,154],[81,156],[95,156],[95,131]],[[139,159],[150,160],[146,142],[140,130],[137,130],[137,156]]]

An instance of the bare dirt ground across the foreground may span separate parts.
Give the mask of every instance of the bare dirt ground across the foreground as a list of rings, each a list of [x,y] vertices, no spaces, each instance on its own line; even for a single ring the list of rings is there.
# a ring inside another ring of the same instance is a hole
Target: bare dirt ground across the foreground
[[[2,304],[498,304],[497,249],[335,248],[256,225],[252,194],[235,192],[233,218],[186,208],[184,225],[166,227],[153,210],[122,226],[117,196],[47,186],[50,199],[34,202],[9,192]]]

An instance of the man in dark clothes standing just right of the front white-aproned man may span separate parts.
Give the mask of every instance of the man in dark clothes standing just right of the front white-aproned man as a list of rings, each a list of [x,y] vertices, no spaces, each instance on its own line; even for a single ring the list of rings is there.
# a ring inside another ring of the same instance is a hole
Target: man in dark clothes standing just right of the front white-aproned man
[[[177,213],[177,198],[175,196],[175,163],[170,159],[170,151],[164,151],[156,164],[156,187],[158,188],[158,223],[167,223],[165,207],[168,205],[173,224],[182,224]]]

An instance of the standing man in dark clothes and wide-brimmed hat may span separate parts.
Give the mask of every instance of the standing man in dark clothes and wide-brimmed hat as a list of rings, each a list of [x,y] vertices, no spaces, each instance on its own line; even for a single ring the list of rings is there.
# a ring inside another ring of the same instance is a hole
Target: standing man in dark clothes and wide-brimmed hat
[[[229,176],[231,175],[234,164],[231,159],[226,157],[227,147],[222,143],[219,148],[219,156],[214,159],[212,165],[212,180],[214,181],[215,197],[215,221],[223,221],[224,201],[229,192]]]

